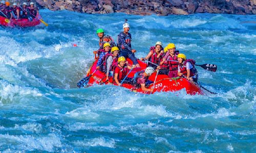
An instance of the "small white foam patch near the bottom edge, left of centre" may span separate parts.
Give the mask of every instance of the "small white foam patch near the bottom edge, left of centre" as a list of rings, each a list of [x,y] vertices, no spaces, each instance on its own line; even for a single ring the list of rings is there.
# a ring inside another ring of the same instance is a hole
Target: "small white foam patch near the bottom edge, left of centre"
[[[115,148],[115,139],[98,137],[93,139],[84,139],[83,141],[74,141],[76,146],[79,147],[91,147],[91,146],[104,146],[109,148]]]

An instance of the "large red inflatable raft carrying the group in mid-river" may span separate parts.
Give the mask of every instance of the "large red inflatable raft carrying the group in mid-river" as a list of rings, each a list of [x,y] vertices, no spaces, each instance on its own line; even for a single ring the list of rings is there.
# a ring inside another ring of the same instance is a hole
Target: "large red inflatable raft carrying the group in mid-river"
[[[127,59],[129,64],[132,65],[132,61],[130,59]],[[94,84],[109,84],[109,85],[117,85],[113,81],[113,77],[109,78],[109,81],[106,81],[106,75],[105,73],[101,72],[100,70],[96,70],[96,64],[98,60],[96,60],[87,73],[87,79],[89,79],[89,82],[87,83],[86,87],[93,86]],[[137,71],[143,70],[146,68],[146,63],[143,63],[142,61],[139,61],[139,64],[141,67],[134,68],[127,77],[133,78],[134,73]],[[156,73],[153,73],[148,80],[152,81],[150,85],[147,86],[147,88],[153,88],[154,81],[156,78]],[[85,79],[85,78],[84,78]],[[80,81],[81,82],[81,81]],[[127,88],[134,92],[140,92],[140,93],[147,93],[150,94],[150,92],[142,91],[141,88],[135,88],[131,84],[122,84],[121,87]],[[195,94],[204,94],[203,90],[195,84],[193,81],[188,81],[185,78],[168,78],[167,75],[157,75],[156,83],[154,86],[154,92],[174,92],[181,89],[185,89],[188,94],[195,95]]]

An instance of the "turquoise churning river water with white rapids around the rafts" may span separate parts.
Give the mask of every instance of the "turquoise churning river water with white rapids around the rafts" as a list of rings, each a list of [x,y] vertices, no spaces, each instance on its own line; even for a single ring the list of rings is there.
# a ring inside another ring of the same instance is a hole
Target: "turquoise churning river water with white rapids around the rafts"
[[[0,27],[0,152],[256,151],[256,15],[39,12],[48,27]],[[78,89],[96,30],[116,41],[124,19],[136,57],[156,41],[175,43],[198,64],[218,66],[197,67],[201,85],[218,94]]]

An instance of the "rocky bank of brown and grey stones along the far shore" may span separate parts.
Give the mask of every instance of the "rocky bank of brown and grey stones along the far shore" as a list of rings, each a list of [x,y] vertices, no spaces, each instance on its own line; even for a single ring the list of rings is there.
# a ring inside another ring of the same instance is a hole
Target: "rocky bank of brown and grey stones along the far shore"
[[[36,0],[36,2],[37,6],[52,11],[70,10],[93,14],[114,12],[163,16],[191,13],[256,14],[256,0]]]

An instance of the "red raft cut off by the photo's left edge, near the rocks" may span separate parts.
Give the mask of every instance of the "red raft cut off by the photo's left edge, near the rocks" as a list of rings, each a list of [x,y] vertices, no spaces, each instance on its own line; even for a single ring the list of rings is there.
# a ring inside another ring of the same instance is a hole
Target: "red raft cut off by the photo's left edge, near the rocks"
[[[35,25],[38,25],[40,23],[41,23],[41,21],[37,18],[33,18],[32,21],[30,21],[29,19],[25,19],[25,18],[18,19],[18,20],[15,20],[15,19],[9,20],[6,17],[0,16],[0,24],[4,25],[5,27],[11,27],[11,28],[14,28],[14,27],[34,27]]]

